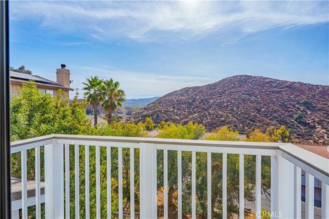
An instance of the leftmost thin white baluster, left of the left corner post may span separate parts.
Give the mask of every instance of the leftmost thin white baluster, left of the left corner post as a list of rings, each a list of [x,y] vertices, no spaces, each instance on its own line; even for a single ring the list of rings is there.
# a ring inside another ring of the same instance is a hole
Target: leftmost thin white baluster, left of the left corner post
[[[27,151],[21,152],[22,218],[27,218]]]

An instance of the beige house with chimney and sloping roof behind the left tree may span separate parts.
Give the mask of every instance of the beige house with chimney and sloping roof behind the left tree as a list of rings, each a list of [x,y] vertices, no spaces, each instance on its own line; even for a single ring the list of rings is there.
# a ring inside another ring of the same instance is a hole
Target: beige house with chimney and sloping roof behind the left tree
[[[43,94],[51,94],[56,96],[58,90],[64,92],[64,98],[69,99],[69,91],[73,90],[70,88],[70,70],[66,69],[65,64],[61,65],[61,68],[56,70],[56,82],[38,75],[29,75],[25,73],[17,73],[10,71],[10,95],[19,94],[22,83],[27,83],[28,81],[34,81],[38,90]]]

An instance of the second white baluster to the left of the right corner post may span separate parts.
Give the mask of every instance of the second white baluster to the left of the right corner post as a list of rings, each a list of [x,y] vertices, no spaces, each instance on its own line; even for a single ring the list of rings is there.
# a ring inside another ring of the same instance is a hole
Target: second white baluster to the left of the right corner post
[[[239,155],[239,218],[245,217],[245,162],[244,155]]]

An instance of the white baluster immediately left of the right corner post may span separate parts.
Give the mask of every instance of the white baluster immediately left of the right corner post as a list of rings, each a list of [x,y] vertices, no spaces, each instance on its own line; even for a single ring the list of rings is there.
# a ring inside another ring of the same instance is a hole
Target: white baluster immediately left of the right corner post
[[[256,155],[256,218],[261,218],[262,202],[262,156]]]

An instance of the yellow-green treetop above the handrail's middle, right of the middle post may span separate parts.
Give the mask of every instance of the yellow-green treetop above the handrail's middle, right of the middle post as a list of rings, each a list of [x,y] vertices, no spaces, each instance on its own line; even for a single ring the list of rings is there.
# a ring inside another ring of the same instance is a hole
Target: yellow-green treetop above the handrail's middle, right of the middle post
[[[186,125],[167,123],[160,129],[158,138],[199,139],[205,132],[206,128],[203,125],[193,122]]]

